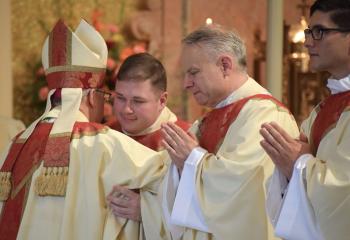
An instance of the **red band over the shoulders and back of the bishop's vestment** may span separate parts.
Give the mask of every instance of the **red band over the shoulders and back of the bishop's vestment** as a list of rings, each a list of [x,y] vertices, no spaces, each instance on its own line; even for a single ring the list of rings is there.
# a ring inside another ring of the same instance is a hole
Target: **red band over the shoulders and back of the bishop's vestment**
[[[46,148],[52,125],[52,123],[39,123],[26,141],[16,139],[1,168],[1,172],[11,172],[12,185],[10,196],[4,202],[0,215],[1,239],[15,240],[17,237],[32,175],[42,162],[44,150],[54,151]],[[97,123],[76,122],[72,137],[91,135],[103,128],[105,128],[103,125]]]

